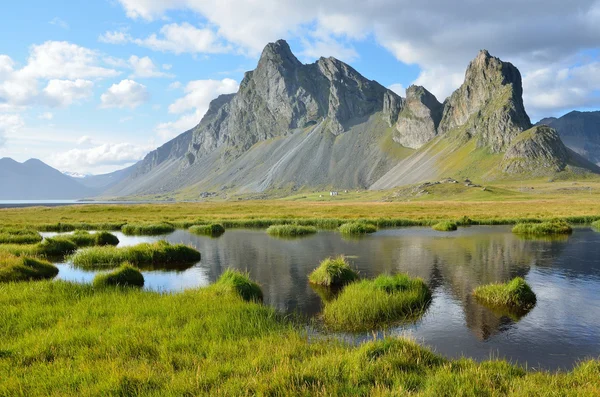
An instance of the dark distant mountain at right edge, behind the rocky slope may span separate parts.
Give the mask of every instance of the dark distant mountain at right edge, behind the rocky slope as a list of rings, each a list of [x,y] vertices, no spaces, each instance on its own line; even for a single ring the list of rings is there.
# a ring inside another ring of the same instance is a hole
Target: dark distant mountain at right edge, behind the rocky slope
[[[554,128],[570,149],[600,164],[600,112],[573,111],[560,118],[542,119],[536,125]]]

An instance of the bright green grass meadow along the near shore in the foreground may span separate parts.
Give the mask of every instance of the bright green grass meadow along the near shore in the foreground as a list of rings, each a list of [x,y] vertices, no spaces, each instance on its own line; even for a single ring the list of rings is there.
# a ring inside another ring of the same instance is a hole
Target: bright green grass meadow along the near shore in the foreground
[[[216,285],[176,294],[0,286],[0,395],[592,396],[600,362],[527,372],[388,337],[349,346]]]

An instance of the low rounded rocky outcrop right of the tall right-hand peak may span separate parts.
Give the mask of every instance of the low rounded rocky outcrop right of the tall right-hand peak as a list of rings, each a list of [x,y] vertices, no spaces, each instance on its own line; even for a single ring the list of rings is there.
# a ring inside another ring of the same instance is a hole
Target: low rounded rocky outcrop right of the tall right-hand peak
[[[537,126],[521,133],[508,148],[500,165],[508,174],[549,174],[565,169],[569,152],[558,133]]]

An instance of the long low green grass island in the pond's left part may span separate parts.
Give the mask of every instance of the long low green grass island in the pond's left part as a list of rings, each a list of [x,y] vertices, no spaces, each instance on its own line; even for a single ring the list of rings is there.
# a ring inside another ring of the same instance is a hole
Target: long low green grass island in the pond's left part
[[[200,252],[184,244],[166,241],[142,243],[129,247],[90,247],[77,251],[71,260],[75,266],[88,269],[115,267],[123,262],[134,266],[166,266],[196,263]]]

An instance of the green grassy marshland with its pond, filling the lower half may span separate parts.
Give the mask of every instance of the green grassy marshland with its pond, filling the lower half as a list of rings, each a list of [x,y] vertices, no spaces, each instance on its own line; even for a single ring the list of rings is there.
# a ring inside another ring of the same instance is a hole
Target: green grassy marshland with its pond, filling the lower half
[[[40,231],[44,242],[0,245],[12,264],[32,256],[58,270],[46,280],[0,284],[0,372],[8,374],[0,394],[86,387],[126,395],[429,395],[458,388],[593,395],[600,388],[600,233],[592,213],[570,217],[565,238],[529,239],[513,233],[519,221],[561,217],[522,214],[479,225],[483,218],[469,213],[292,220],[199,211],[142,220],[127,214],[129,206],[121,214],[85,207],[52,209],[32,222],[26,229]],[[83,216],[65,219],[55,210]],[[40,209],[0,211],[14,231],[26,225],[8,222],[17,219],[12,211],[27,219]],[[99,222],[103,212],[111,215]],[[338,228],[349,220],[376,230],[345,238]],[[432,229],[444,220],[457,230]],[[126,234],[126,224],[147,232]],[[213,224],[226,232],[213,233]],[[153,225],[172,231],[155,234]],[[273,225],[311,232],[273,238],[266,232]],[[100,230],[110,230],[118,245],[92,243]],[[45,241],[72,245],[50,255],[40,248]],[[311,277],[315,269],[348,273],[328,288],[322,275]],[[536,295],[524,315],[475,297],[478,287],[515,277]],[[401,295],[407,291],[412,295]],[[72,366],[79,369],[67,373]]]

